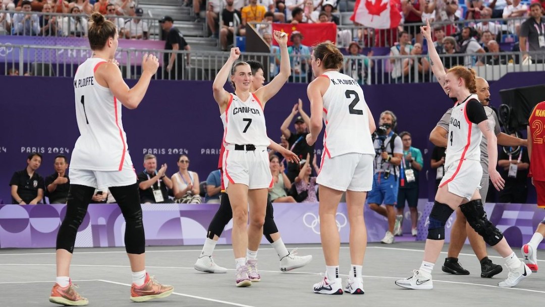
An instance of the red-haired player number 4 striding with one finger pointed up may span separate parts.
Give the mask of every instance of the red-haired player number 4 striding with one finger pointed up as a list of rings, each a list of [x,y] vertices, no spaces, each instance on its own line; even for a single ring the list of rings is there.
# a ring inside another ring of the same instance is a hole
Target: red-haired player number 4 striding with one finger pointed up
[[[445,223],[452,212],[460,207],[469,225],[504,258],[509,273],[507,279],[498,286],[515,286],[528,277],[531,271],[517,258],[501,231],[488,220],[478,190],[482,177],[480,144],[483,135],[488,140],[490,181],[498,191],[503,189],[505,181],[496,171],[498,145],[494,123],[488,120],[485,109],[474,94],[475,71],[455,66],[445,73],[439,54],[433,48],[429,22],[420,29],[428,42],[433,74],[447,96],[456,99],[457,103],[452,108],[447,137],[447,170],[429,214],[424,259],[420,269],[413,271],[413,276],[396,280],[396,285],[407,289],[433,289],[432,270],[445,242]]]

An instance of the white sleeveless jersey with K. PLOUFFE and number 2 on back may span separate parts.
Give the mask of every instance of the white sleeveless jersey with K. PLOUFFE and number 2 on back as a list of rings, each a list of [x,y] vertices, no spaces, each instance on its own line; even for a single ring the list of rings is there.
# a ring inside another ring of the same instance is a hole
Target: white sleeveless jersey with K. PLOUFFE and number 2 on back
[[[353,78],[337,71],[322,76],[330,80],[324,101],[324,152],[329,158],[347,153],[372,154],[367,102]]]

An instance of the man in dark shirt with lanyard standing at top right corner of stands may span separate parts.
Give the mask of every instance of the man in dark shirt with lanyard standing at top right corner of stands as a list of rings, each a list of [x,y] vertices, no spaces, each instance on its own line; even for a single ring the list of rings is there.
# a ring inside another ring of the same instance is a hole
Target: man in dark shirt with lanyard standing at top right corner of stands
[[[519,41],[523,60],[529,57],[528,51],[542,53],[531,55],[531,60],[534,63],[545,62],[545,20],[542,17],[541,9],[539,3],[532,3],[530,5],[531,17],[520,26]],[[528,48],[526,48],[526,43],[528,43]]]

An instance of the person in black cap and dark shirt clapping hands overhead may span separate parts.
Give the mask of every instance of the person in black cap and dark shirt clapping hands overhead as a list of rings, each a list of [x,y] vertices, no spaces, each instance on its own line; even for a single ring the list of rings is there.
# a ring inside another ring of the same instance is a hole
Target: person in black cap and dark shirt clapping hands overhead
[[[289,130],[289,124],[293,121],[295,115],[299,114],[295,118],[295,132]],[[286,120],[282,123],[280,130],[282,135],[286,137],[289,147],[288,149],[299,156],[299,159],[303,159],[310,154],[310,158],[314,156],[314,145],[309,146],[306,142],[306,135],[308,134],[308,124],[310,124],[310,117],[303,110],[303,102],[299,99],[299,102],[293,106],[292,112],[286,117]],[[295,177],[299,175],[299,164],[288,162],[287,176],[290,182],[294,182]]]

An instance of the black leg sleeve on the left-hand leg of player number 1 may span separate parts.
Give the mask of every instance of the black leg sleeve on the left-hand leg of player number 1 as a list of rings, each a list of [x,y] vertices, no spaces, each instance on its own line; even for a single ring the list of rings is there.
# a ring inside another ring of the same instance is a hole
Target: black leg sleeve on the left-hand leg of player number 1
[[[80,228],[83,218],[87,214],[87,207],[94,192],[94,187],[70,185],[68,201],[66,202],[66,215],[57,233],[57,249],[66,249],[70,253],[74,252],[77,229]]]

